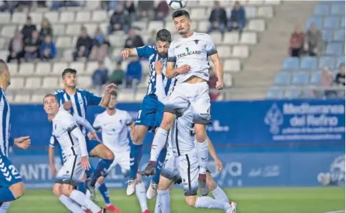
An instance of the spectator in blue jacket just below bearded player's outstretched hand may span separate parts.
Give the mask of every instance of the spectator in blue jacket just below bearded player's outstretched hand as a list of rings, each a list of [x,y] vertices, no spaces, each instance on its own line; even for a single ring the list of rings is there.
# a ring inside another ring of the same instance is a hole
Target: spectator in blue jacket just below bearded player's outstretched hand
[[[141,82],[142,67],[139,58],[133,57],[126,70],[126,88],[131,87],[137,89],[137,85]]]

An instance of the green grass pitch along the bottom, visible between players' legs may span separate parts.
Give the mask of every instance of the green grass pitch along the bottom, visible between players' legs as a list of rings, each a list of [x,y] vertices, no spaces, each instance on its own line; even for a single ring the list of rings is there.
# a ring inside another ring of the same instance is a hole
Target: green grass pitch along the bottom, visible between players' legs
[[[238,213],[325,213],[345,210],[344,188],[228,188],[229,198],[238,203]],[[100,194],[98,199],[102,201]],[[135,195],[111,190],[111,200],[123,213],[140,213]],[[149,201],[154,210],[154,200]],[[102,205],[102,203],[100,203]],[[221,210],[194,210],[184,201],[182,190],[171,192],[172,213],[222,213]],[[10,205],[9,213],[68,212],[51,190],[27,190],[24,197]]]

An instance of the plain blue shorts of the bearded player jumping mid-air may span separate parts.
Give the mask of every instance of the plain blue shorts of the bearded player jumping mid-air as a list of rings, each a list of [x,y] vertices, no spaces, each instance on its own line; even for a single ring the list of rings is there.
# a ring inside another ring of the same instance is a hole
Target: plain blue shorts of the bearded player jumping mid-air
[[[135,125],[148,126],[149,131],[154,131],[155,128],[161,125],[163,118],[163,110],[165,105],[154,94],[147,95],[143,98],[141,110],[139,110]]]

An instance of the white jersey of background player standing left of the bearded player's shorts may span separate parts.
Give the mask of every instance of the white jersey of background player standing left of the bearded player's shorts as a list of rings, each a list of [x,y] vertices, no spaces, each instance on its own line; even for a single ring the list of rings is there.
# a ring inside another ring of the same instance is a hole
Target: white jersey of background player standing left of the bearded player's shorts
[[[127,111],[116,109],[114,115],[107,111],[97,115],[93,127],[102,129],[102,141],[113,152],[120,153],[130,149],[128,126],[132,124],[132,117]]]

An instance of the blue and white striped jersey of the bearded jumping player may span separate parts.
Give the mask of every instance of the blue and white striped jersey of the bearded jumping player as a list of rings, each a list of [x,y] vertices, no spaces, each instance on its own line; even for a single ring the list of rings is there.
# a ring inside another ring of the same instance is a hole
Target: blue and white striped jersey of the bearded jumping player
[[[163,61],[163,85],[165,87],[165,93],[166,95],[168,94],[168,91],[172,90],[172,87],[174,87],[174,80],[165,78],[165,65],[167,63],[167,58],[161,58],[157,52],[156,46],[143,46],[143,47],[137,47],[137,56],[139,58],[146,58],[149,61],[149,82],[148,82],[148,91],[147,95],[150,94],[156,94],[156,72],[154,68],[154,63],[157,62],[157,60],[162,60]]]

